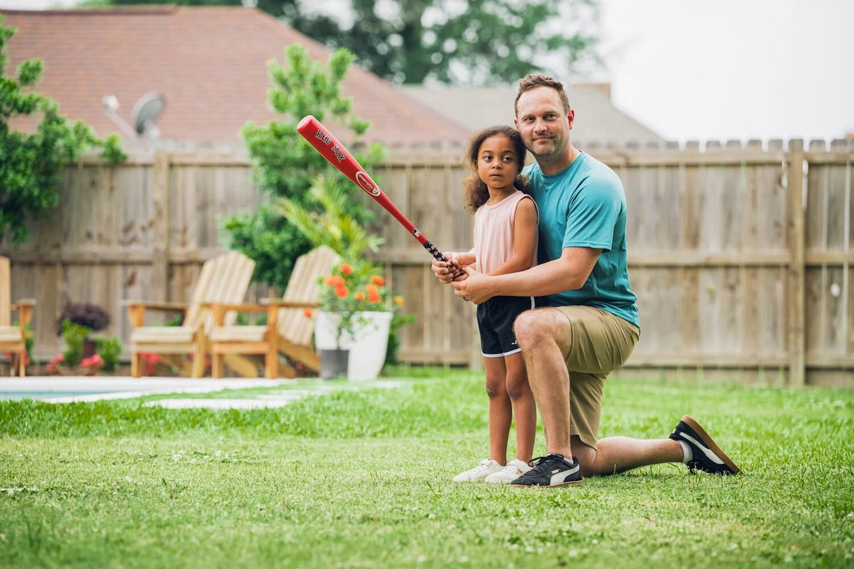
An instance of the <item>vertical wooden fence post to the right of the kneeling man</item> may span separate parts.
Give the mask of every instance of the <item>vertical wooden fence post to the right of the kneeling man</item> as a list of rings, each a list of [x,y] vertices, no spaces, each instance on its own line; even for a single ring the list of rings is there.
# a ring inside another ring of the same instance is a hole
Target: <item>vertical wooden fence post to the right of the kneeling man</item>
[[[788,293],[788,346],[789,386],[804,386],[806,338],[804,302],[806,295],[806,267],[804,263],[805,212],[804,212],[804,141],[789,141],[789,160],[786,171],[789,195],[789,229],[792,246],[789,259]]]

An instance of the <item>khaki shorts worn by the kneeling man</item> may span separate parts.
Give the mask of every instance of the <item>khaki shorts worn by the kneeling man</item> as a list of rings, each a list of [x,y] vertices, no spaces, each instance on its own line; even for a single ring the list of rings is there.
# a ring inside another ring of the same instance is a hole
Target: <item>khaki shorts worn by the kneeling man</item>
[[[640,328],[593,306],[554,306],[570,319],[570,434],[596,448],[605,377],[629,359]]]

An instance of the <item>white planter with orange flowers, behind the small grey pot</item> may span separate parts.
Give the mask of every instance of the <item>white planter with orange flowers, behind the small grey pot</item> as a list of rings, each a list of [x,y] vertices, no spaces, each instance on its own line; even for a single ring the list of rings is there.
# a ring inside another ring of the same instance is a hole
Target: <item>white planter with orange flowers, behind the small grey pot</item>
[[[349,350],[347,379],[372,380],[379,375],[385,362],[391,312],[361,312],[354,320],[353,339],[342,334],[341,345],[336,345],[338,315],[335,312],[318,312],[314,318],[314,346],[318,350],[334,350],[336,347]]]

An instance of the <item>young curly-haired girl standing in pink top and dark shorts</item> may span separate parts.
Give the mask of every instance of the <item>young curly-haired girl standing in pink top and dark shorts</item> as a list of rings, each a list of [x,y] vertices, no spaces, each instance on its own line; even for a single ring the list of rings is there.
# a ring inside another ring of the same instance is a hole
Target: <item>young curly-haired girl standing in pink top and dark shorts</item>
[[[504,275],[535,264],[538,213],[520,176],[525,147],[518,131],[494,126],[475,136],[465,154],[473,173],[463,183],[465,207],[475,215],[475,246],[446,253],[452,264],[476,265],[488,275]],[[531,297],[499,296],[477,306],[486,392],[489,397],[489,457],[454,482],[484,480],[509,484],[528,472],[534,450],[536,406],[522,354],[513,333]],[[516,458],[507,462],[507,437],[516,415]]]

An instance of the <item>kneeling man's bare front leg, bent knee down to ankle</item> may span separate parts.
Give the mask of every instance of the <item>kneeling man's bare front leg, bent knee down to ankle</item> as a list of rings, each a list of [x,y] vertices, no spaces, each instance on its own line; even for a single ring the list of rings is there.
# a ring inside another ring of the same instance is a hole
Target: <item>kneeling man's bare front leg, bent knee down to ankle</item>
[[[514,329],[547,433],[546,452],[571,460],[570,374],[564,360],[572,344],[570,322],[563,312],[543,308],[520,314]]]

